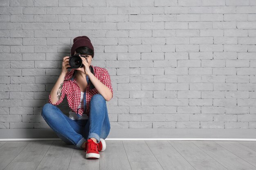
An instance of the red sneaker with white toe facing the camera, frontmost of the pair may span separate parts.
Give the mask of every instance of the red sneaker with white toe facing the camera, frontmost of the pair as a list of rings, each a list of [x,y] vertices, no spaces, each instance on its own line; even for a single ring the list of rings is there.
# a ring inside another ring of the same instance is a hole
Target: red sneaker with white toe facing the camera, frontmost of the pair
[[[86,144],[86,143],[85,143]],[[98,159],[99,158],[99,144],[95,143],[92,139],[87,140],[86,158]]]

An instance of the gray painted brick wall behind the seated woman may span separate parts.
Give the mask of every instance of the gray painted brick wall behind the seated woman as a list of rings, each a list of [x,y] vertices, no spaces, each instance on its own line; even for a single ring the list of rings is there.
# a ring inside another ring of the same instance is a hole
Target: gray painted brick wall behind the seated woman
[[[256,0],[0,0],[0,128],[49,128],[81,35],[110,73],[112,128],[256,128]]]

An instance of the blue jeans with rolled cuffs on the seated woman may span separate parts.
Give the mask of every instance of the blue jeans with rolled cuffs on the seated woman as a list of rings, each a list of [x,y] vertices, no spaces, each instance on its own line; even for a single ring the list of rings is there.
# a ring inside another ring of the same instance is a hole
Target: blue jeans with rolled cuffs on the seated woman
[[[80,149],[87,139],[93,137],[99,143],[100,138],[106,139],[110,132],[107,104],[101,94],[92,96],[87,120],[72,120],[50,103],[43,106],[42,116],[59,138]]]

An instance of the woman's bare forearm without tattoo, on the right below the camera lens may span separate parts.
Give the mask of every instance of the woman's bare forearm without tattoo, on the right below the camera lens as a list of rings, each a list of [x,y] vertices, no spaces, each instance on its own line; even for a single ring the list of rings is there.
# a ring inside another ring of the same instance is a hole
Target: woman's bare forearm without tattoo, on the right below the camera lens
[[[104,97],[104,99],[106,101],[110,101],[110,99],[113,97],[112,90],[110,90],[108,86],[99,81],[99,79],[97,79],[97,77],[95,77],[91,72],[88,74],[88,77],[96,90]]]

